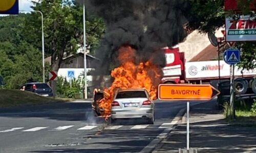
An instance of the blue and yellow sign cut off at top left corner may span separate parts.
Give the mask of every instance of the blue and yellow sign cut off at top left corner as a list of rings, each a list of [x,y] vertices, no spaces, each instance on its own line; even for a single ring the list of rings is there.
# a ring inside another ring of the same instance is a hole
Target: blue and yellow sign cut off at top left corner
[[[0,14],[18,14],[18,0],[0,0]]]

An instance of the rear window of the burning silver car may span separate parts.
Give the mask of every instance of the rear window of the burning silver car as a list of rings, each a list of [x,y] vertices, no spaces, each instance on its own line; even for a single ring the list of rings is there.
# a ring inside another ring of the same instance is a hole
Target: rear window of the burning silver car
[[[121,91],[118,92],[116,98],[146,98],[145,91]]]

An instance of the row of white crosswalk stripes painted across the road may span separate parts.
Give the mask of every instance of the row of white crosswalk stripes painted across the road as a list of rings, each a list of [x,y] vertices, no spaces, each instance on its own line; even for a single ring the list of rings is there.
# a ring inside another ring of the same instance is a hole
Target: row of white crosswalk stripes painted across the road
[[[4,129],[0,127],[0,134],[1,133],[9,133],[14,131],[20,132],[38,132],[38,131],[65,131],[69,129],[77,130],[77,131],[89,131],[89,130],[97,130],[97,127],[101,125],[86,125],[86,126],[77,126],[77,125],[63,125],[57,127],[50,127],[50,126],[36,126],[36,127],[10,127],[9,129]],[[173,123],[162,123],[159,125],[108,125],[104,126],[104,130],[111,131],[111,130],[140,130],[140,129],[167,129],[171,128]]]

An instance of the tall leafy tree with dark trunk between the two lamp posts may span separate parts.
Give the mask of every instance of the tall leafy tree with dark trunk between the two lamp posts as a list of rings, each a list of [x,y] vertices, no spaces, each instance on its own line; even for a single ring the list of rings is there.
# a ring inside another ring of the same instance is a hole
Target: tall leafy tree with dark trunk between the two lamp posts
[[[44,14],[45,49],[51,56],[51,69],[58,71],[65,54],[72,55],[82,46],[82,8],[72,1],[44,0],[35,3],[34,10],[40,10]],[[101,19],[92,17],[87,24],[87,47],[93,49],[97,46],[104,32],[104,23]],[[26,20],[26,27],[30,29],[26,35],[31,36],[34,45],[40,47],[40,15],[32,13]],[[29,40],[27,40],[29,42]]]

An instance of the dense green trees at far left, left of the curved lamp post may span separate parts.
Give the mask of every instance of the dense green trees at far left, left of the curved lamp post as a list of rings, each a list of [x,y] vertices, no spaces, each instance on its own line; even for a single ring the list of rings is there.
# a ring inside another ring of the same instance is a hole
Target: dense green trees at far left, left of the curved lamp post
[[[29,15],[0,17],[0,75],[8,89],[17,89],[31,78],[42,81],[41,51],[24,39]]]

